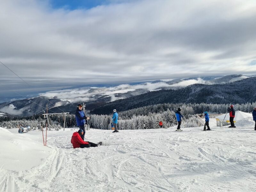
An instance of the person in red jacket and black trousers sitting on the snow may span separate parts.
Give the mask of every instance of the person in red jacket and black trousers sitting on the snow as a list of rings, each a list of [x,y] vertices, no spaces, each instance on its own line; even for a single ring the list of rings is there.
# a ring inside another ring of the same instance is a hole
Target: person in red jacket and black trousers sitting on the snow
[[[88,147],[98,147],[99,144],[92,143],[89,141],[84,141],[81,138],[81,135],[83,135],[84,132],[82,129],[79,129],[78,132],[74,132],[71,138],[71,143],[73,145],[73,148],[88,148]]]

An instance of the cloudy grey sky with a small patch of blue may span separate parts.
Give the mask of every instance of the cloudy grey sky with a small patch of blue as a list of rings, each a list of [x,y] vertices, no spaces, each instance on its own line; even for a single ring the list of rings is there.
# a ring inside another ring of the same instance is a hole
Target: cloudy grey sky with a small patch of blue
[[[256,74],[255,0],[8,0],[0,98],[79,85]]]

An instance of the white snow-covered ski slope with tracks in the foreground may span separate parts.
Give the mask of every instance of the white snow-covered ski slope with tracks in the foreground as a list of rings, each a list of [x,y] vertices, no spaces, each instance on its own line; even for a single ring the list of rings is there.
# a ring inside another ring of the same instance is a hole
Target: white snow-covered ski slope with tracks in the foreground
[[[254,124],[88,130],[110,145],[73,149],[72,133],[0,128],[0,191],[255,191]],[[39,160],[41,159],[41,160]]]

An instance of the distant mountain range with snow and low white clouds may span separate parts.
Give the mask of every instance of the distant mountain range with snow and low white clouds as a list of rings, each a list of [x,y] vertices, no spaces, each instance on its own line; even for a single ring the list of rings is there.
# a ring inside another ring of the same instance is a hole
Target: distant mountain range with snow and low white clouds
[[[75,89],[56,90],[41,93],[30,99],[16,100],[0,104],[0,112],[11,115],[33,115],[45,111],[48,104],[54,112],[70,111],[77,103],[85,102],[87,110],[92,110],[110,101],[130,98],[143,93],[158,90],[180,89],[191,84],[226,84],[248,76],[228,75],[223,77],[197,77],[187,79],[162,79],[141,84],[120,84],[113,87],[81,87]],[[51,112],[51,111],[50,111]]]

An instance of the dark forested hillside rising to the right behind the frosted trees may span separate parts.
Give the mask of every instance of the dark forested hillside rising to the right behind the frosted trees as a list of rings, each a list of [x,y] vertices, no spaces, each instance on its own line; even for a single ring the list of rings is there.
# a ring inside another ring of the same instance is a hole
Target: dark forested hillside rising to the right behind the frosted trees
[[[91,111],[93,114],[109,114],[114,108],[125,111],[161,103],[212,103],[230,104],[256,101],[256,77],[228,84],[193,84],[178,90],[160,90],[128,99],[110,102]]]

